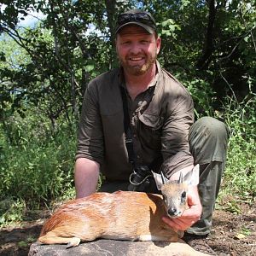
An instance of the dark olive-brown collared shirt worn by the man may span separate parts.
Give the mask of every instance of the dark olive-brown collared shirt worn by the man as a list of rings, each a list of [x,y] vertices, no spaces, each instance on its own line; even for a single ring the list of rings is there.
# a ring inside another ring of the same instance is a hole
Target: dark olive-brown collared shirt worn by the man
[[[189,127],[194,122],[193,101],[158,61],[157,70],[148,90],[134,101],[127,96],[134,151],[138,163],[149,166],[161,156],[163,160],[171,159],[178,171],[193,164],[188,143]],[[132,172],[125,148],[120,86],[125,86],[121,68],[93,79],[84,94],[79,125],[76,159],[84,157],[100,163],[108,181],[128,181]]]

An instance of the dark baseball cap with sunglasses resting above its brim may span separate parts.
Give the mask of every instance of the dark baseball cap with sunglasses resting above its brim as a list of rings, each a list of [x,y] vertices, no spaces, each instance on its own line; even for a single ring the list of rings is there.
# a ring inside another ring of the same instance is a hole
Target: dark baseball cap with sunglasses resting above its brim
[[[148,33],[156,32],[156,24],[151,14],[141,9],[131,9],[118,15],[115,33],[127,25],[142,26]]]

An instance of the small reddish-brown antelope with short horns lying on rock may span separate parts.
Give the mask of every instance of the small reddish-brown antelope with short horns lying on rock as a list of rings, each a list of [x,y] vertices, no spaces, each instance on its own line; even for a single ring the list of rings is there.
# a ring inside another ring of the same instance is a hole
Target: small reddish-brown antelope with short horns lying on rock
[[[43,244],[67,244],[97,238],[128,241],[178,241],[183,231],[173,230],[163,216],[177,218],[187,209],[189,185],[197,185],[199,166],[169,181],[154,173],[162,195],[135,191],[96,192],[69,201],[44,224],[38,241]]]

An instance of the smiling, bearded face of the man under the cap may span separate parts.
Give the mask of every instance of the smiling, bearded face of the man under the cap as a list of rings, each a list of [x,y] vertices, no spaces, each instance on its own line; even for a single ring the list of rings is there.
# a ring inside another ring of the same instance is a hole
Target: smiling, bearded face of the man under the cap
[[[141,26],[125,26],[117,34],[116,50],[125,73],[141,75],[153,67],[160,51],[160,38]]]

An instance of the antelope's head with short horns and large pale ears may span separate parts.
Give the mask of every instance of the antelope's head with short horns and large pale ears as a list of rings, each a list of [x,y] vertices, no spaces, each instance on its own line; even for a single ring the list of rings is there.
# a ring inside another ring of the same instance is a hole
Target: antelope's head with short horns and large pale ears
[[[196,186],[199,183],[199,165],[184,177],[182,172],[179,179],[170,181],[163,172],[154,173],[154,180],[157,189],[161,190],[165,202],[166,212],[170,218],[177,218],[188,208],[188,190],[189,186]]]

